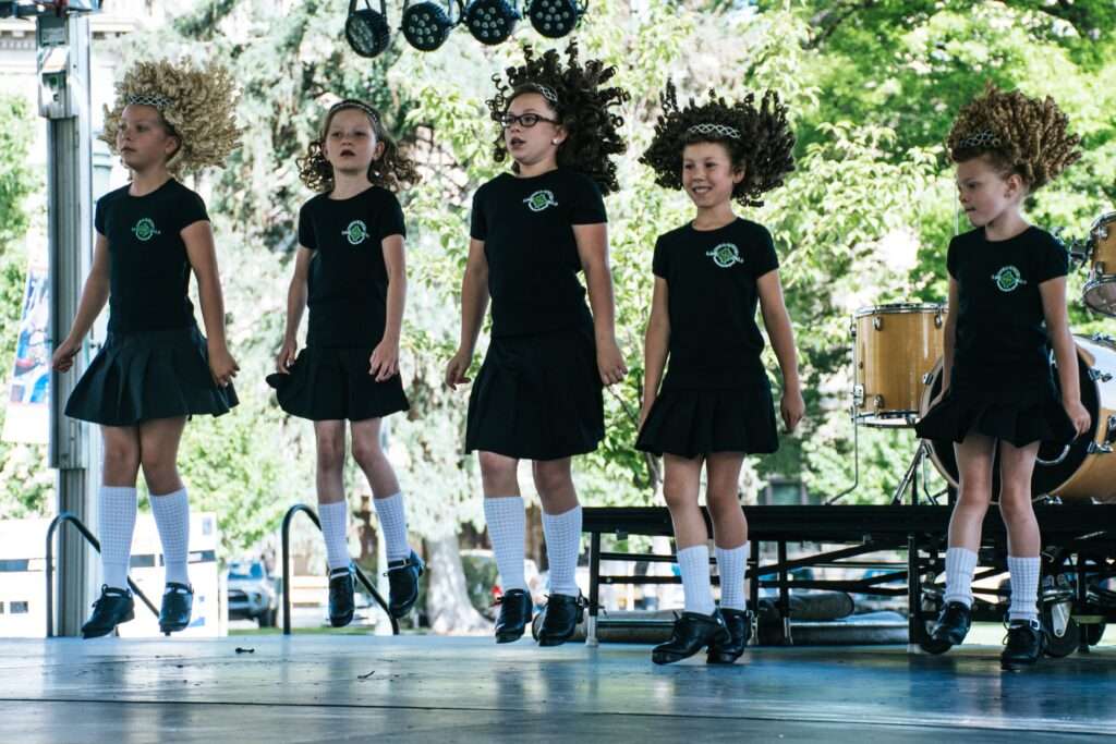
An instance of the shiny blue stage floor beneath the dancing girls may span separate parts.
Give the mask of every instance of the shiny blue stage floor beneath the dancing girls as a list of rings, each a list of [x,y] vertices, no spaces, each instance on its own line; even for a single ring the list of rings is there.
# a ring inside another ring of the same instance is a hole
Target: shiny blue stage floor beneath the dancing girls
[[[238,654],[237,647],[254,653]],[[1002,673],[999,648],[648,647],[306,635],[0,640],[0,742],[1008,742],[1116,735],[1116,647]]]

